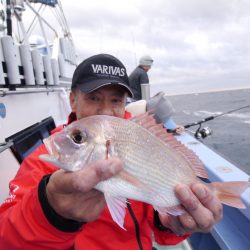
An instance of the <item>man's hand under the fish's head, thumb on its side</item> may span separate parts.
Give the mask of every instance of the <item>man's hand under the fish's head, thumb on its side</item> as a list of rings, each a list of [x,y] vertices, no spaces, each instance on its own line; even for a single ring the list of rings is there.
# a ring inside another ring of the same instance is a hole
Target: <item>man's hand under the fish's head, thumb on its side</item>
[[[105,207],[105,199],[95,185],[117,174],[123,167],[118,158],[99,160],[76,172],[58,170],[46,187],[51,207],[62,217],[79,222],[96,220]]]

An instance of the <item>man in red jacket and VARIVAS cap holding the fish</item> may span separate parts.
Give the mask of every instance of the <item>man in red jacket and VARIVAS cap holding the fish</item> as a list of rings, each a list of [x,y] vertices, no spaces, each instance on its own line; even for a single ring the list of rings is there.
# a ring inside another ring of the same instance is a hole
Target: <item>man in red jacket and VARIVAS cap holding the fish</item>
[[[124,117],[127,95],[132,92],[123,64],[106,54],[90,57],[73,75],[69,123],[90,115]],[[180,184],[175,191],[187,213],[158,215],[130,200],[125,231],[94,189],[122,169],[118,158],[65,172],[39,160],[46,153],[38,147],[10,183],[10,197],[0,207],[0,249],[152,249],[152,231],[159,243],[177,244],[191,232],[208,232],[222,216],[221,203],[205,185]]]

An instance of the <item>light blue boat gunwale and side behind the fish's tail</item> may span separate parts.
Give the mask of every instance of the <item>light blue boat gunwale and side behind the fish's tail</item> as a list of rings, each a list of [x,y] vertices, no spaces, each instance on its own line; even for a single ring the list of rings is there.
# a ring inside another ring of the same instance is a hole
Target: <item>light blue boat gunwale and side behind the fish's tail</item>
[[[249,175],[237,168],[225,157],[214,152],[201,141],[184,133],[177,136],[193,150],[204,163],[209,182],[249,181]],[[242,194],[246,209],[224,206],[223,219],[211,233],[195,233],[190,237],[194,250],[249,250],[250,249],[250,188]]]

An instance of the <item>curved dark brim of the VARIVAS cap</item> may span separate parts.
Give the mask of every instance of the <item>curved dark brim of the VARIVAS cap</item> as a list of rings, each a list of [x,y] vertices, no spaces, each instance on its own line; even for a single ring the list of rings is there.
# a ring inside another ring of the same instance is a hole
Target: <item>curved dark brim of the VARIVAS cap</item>
[[[99,79],[95,81],[89,81],[89,82],[84,82],[84,84],[78,84],[77,88],[80,89],[82,92],[85,93],[90,93],[92,91],[95,91],[101,87],[108,86],[108,85],[118,85],[121,86],[125,89],[125,91],[128,93],[130,97],[133,97],[133,92],[132,90],[122,82],[118,82],[116,79]]]

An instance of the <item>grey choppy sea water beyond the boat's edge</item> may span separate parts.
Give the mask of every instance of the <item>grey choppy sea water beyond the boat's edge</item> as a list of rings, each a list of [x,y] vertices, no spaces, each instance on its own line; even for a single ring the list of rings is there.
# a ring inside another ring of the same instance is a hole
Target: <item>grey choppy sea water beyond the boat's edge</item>
[[[186,125],[250,105],[250,89],[175,95],[169,100],[175,108],[174,121]],[[203,143],[250,175],[250,107],[217,117],[202,127],[213,131]]]

